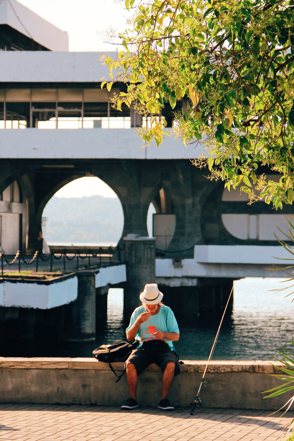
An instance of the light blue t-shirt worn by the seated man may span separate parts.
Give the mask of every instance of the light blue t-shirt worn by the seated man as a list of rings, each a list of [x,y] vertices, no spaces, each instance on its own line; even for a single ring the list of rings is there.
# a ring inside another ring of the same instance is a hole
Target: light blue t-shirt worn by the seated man
[[[148,312],[145,310],[144,306],[139,306],[134,310],[130,318],[130,325],[127,327],[126,332],[128,329],[130,329],[131,326],[134,325],[135,320],[143,312]],[[175,314],[168,306],[165,305],[160,306],[160,310],[158,311],[157,314],[150,315],[147,321],[141,323],[138,329],[138,333],[135,337],[135,340],[140,342],[138,348],[141,347],[144,341],[156,340],[156,337],[153,335],[156,331],[176,332],[179,334],[179,326],[175,319]],[[163,340],[171,348],[171,351],[175,350],[171,340],[166,340],[166,339]]]

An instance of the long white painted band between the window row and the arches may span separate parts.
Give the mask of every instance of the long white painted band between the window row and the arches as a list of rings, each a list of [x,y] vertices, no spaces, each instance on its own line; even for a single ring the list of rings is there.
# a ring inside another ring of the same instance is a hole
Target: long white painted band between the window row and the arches
[[[160,148],[141,145],[133,129],[1,130],[0,158],[189,159],[203,153],[201,146],[185,147],[181,139],[171,137]]]

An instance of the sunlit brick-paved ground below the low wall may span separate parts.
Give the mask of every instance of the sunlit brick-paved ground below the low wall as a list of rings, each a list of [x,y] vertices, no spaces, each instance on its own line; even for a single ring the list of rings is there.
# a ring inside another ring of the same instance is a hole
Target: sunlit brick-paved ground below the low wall
[[[0,441],[278,441],[293,417],[268,411],[0,404]]]

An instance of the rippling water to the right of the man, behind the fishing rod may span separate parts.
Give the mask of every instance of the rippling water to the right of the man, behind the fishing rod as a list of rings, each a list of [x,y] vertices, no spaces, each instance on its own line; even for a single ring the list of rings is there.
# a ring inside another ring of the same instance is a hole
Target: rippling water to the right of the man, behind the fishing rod
[[[293,349],[292,292],[271,291],[289,286],[287,279],[246,278],[234,282],[231,318],[223,322],[212,359],[273,359],[281,345]],[[175,344],[182,359],[207,359],[219,323],[205,329],[190,329],[180,324],[181,340]],[[183,344],[183,342],[190,342]]]

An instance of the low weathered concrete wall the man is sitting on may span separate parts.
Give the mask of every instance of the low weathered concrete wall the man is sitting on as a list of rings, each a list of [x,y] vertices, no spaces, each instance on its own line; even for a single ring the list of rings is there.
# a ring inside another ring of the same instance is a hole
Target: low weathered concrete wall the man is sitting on
[[[175,406],[194,400],[205,361],[186,361],[175,378],[169,398]],[[275,363],[279,364],[279,363]],[[113,363],[117,372],[123,363]],[[213,361],[208,366],[201,399],[205,407],[278,409],[290,397],[283,394],[264,399],[262,391],[279,385],[268,374],[279,373],[267,361]],[[140,405],[158,404],[161,389],[159,368],[150,365],[139,377]],[[2,403],[63,403],[120,405],[128,396],[126,377],[115,384],[106,363],[87,358],[0,358]]]

